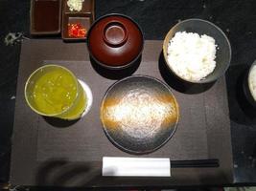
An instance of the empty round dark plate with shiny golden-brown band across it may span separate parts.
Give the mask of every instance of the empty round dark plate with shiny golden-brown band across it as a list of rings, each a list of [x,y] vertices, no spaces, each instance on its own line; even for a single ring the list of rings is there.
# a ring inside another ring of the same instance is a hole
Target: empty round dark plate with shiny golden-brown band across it
[[[128,76],[105,93],[101,120],[106,137],[131,154],[146,154],[175,133],[178,104],[170,88],[151,76]]]

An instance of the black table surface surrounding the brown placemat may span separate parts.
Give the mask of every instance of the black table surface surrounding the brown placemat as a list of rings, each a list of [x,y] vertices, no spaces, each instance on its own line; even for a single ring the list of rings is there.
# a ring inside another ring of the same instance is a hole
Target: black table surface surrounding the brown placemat
[[[256,184],[256,110],[242,94],[241,79],[256,59],[254,0],[96,0],[96,18],[125,13],[141,26],[146,39],[163,39],[180,20],[202,18],[218,25],[232,46],[226,73],[235,182]],[[20,44],[6,46],[8,32],[30,37],[30,1],[0,1],[0,183],[9,180],[12,125]]]

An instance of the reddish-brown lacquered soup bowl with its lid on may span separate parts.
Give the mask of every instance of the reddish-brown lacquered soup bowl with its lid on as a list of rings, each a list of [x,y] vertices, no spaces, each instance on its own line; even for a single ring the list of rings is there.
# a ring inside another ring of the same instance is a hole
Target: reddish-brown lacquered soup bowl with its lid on
[[[96,63],[107,69],[124,69],[142,53],[143,33],[138,24],[122,14],[108,14],[93,23],[87,47]]]

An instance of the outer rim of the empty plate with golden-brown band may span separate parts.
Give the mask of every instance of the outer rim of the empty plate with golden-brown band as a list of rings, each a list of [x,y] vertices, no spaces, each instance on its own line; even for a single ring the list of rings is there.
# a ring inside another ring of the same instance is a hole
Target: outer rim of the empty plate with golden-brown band
[[[160,84],[162,84],[168,91],[169,93],[174,97],[175,99],[175,106],[176,106],[176,111],[177,111],[177,117],[176,117],[176,121],[175,121],[175,128],[174,128],[174,131],[172,132],[172,134],[166,138],[159,146],[155,147],[154,149],[152,150],[148,150],[148,151],[145,151],[145,152],[137,152],[137,151],[133,151],[133,150],[130,150],[130,149],[127,149],[125,147],[123,147],[122,145],[120,145],[118,142],[116,142],[113,138],[111,138],[108,134],[108,132],[106,131],[106,128],[105,128],[105,124],[103,122],[103,117],[102,117],[102,114],[103,114],[103,104],[105,102],[105,97],[108,95],[109,91],[112,90],[112,88],[129,79],[129,78],[133,78],[133,77],[145,77],[145,78],[148,78],[148,79],[152,79],[152,80],[155,80],[157,82],[159,82]],[[178,123],[179,123],[179,119],[180,119],[180,109],[179,109],[179,104],[177,102],[177,99],[174,95],[174,93],[172,92],[172,89],[165,83],[163,82],[162,80],[156,78],[156,77],[153,77],[153,76],[150,76],[150,75],[145,75],[145,74],[134,74],[134,75],[129,75],[128,77],[125,77],[125,78],[122,78],[118,81],[115,81],[114,83],[112,83],[108,88],[107,90],[105,91],[105,95],[104,97],[102,98],[102,101],[101,101],[101,106],[100,106],[100,120],[101,120],[101,124],[102,124],[102,128],[104,129],[104,132],[105,132],[105,136],[106,138],[108,138],[110,140],[110,142],[116,146],[117,148],[121,149],[122,151],[125,151],[129,154],[134,154],[134,155],[144,155],[144,154],[149,154],[149,153],[152,153],[158,149],[160,149],[162,146],[164,146],[171,138],[173,138],[173,136],[175,135],[175,131],[177,129],[177,126],[178,126]]]

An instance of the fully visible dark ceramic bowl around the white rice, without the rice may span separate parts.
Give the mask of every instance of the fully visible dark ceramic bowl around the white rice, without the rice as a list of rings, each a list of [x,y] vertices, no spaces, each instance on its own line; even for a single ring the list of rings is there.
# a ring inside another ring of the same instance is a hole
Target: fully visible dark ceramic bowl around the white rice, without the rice
[[[170,71],[175,74],[178,78],[191,83],[210,83],[216,81],[223,74],[225,74],[226,70],[229,67],[231,60],[231,46],[230,43],[219,27],[214,25],[213,23],[201,19],[188,19],[182,22],[177,23],[166,35],[163,44],[163,53],[166,63],[168,63],[167,58],[167,48],[170,40],[175,36],[176,32],[197,32],[199,35],[206,34],[215,39],[215,44],[217,45],[216,50],[216,68],[213,73],[208,74],[203,79],[196,80],[188,80],[183,78],[182,76],[175,73],[175,71],[168,64],[168,68]]]

